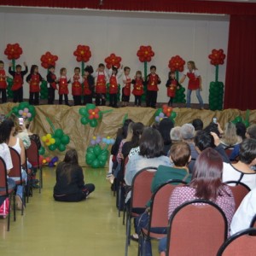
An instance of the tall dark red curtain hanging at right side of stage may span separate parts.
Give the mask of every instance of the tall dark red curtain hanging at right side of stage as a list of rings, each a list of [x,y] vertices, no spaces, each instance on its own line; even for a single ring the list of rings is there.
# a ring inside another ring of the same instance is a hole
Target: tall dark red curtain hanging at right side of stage
[[[256,16],[230,16],[224,108],[256,108],[255,29]]]

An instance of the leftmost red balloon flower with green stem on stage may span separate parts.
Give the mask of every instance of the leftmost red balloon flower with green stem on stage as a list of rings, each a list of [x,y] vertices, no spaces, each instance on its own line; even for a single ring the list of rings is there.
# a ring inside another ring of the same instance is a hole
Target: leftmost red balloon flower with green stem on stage
[[[4,54],[7,55],[7,58],[12,61],[12,70],[15,71],[15,60],[18,60],[20,58],[20,55],[22,55],[23,51],[22,48],[20,47],[20,44],[7,44],[6,49],[4,49]],[[14,97],[14,92],[11,90],[12,85],[13,85],[13,79],[8,78],[7,79],[7,97],[8,98],[13,98]]]

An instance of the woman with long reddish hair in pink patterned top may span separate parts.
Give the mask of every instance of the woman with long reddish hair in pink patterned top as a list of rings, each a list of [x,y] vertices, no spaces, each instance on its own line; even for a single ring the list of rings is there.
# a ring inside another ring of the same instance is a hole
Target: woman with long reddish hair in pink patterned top
[[[168,217],[170,218],[172,212],[185,201],[206,199],[215,202],[224,211],[230,230],[231,219],[235,212],[235,201],[229,186],[221,181],[222,170],[223,161],[218,152],[213,148],[207,148],[201,152],[195,161],[189,185],[177,187],[172,191]],[[166,238],[160,240],[159,250],[160,256],[166,255]]]

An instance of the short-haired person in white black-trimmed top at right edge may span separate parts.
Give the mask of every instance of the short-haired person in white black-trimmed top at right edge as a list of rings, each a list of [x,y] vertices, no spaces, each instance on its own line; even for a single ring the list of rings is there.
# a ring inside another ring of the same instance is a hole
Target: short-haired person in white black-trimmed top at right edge
[[[237,163],[224,163],[223,182],[240,181],[250,189],[256,188],[256,172],[252,166],[256,165],[256,140],[245,139],[240,145],[239,161]]]

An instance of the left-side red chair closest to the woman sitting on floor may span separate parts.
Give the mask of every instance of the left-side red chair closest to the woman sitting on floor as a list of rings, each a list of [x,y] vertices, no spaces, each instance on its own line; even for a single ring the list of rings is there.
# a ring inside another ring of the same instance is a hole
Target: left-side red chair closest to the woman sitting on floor
[[[37,143],[32,138],[30,141],[30,147],[26,148],[26,157],[34,168],[39,169],[39,193],[41,193],[41,189],[43,189],[43,168],[39,162],[39,148]]]

